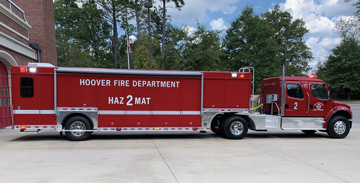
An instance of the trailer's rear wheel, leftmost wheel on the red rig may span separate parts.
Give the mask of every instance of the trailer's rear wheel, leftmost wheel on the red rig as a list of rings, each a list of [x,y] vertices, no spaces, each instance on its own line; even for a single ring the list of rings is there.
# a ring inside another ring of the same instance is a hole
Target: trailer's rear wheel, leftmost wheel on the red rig
[[[89,120],[82,116],[74,116],[67,120],[65,130],[92,130]],[[72,141],[86,140],[92,132],[65,132],[66,137]]]

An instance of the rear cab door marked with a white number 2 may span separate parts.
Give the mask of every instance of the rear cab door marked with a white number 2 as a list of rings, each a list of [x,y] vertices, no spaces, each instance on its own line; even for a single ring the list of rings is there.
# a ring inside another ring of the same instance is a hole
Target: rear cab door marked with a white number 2
[[[308,116],[308,95],[306,88],[301,82],[285,82],[285,110],[284,116]]]

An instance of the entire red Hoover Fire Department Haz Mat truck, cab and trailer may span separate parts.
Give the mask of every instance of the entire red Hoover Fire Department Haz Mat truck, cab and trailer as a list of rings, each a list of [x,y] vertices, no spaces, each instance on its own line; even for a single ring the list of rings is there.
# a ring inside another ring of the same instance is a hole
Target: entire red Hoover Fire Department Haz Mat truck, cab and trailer
[[[196,72],[30,63],[12,66],[11,78],[12,128],[56,130],[70,140],[95,131],[212,131],[241,139],[248,129],[324,131],[343,138],[352,125],[350,107],[333,101],[330,86],[313,78],[263,80],[262,107],[253,113],[251,67]]]

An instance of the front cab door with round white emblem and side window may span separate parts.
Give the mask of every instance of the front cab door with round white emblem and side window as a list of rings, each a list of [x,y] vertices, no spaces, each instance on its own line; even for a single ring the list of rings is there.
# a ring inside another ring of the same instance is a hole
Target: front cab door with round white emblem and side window
[[[309,82],[309,116],[325,117],[330,109],[327,87],[323,83]]]

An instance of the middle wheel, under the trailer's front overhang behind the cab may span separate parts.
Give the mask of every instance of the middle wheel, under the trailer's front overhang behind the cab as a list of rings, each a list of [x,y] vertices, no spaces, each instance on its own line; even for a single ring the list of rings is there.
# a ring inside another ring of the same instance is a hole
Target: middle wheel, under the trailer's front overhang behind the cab
[[[230,139],[241,139],[248,134],[248,122],[240,116],[231,116],[227,118],[220,129],[225,137]]]

